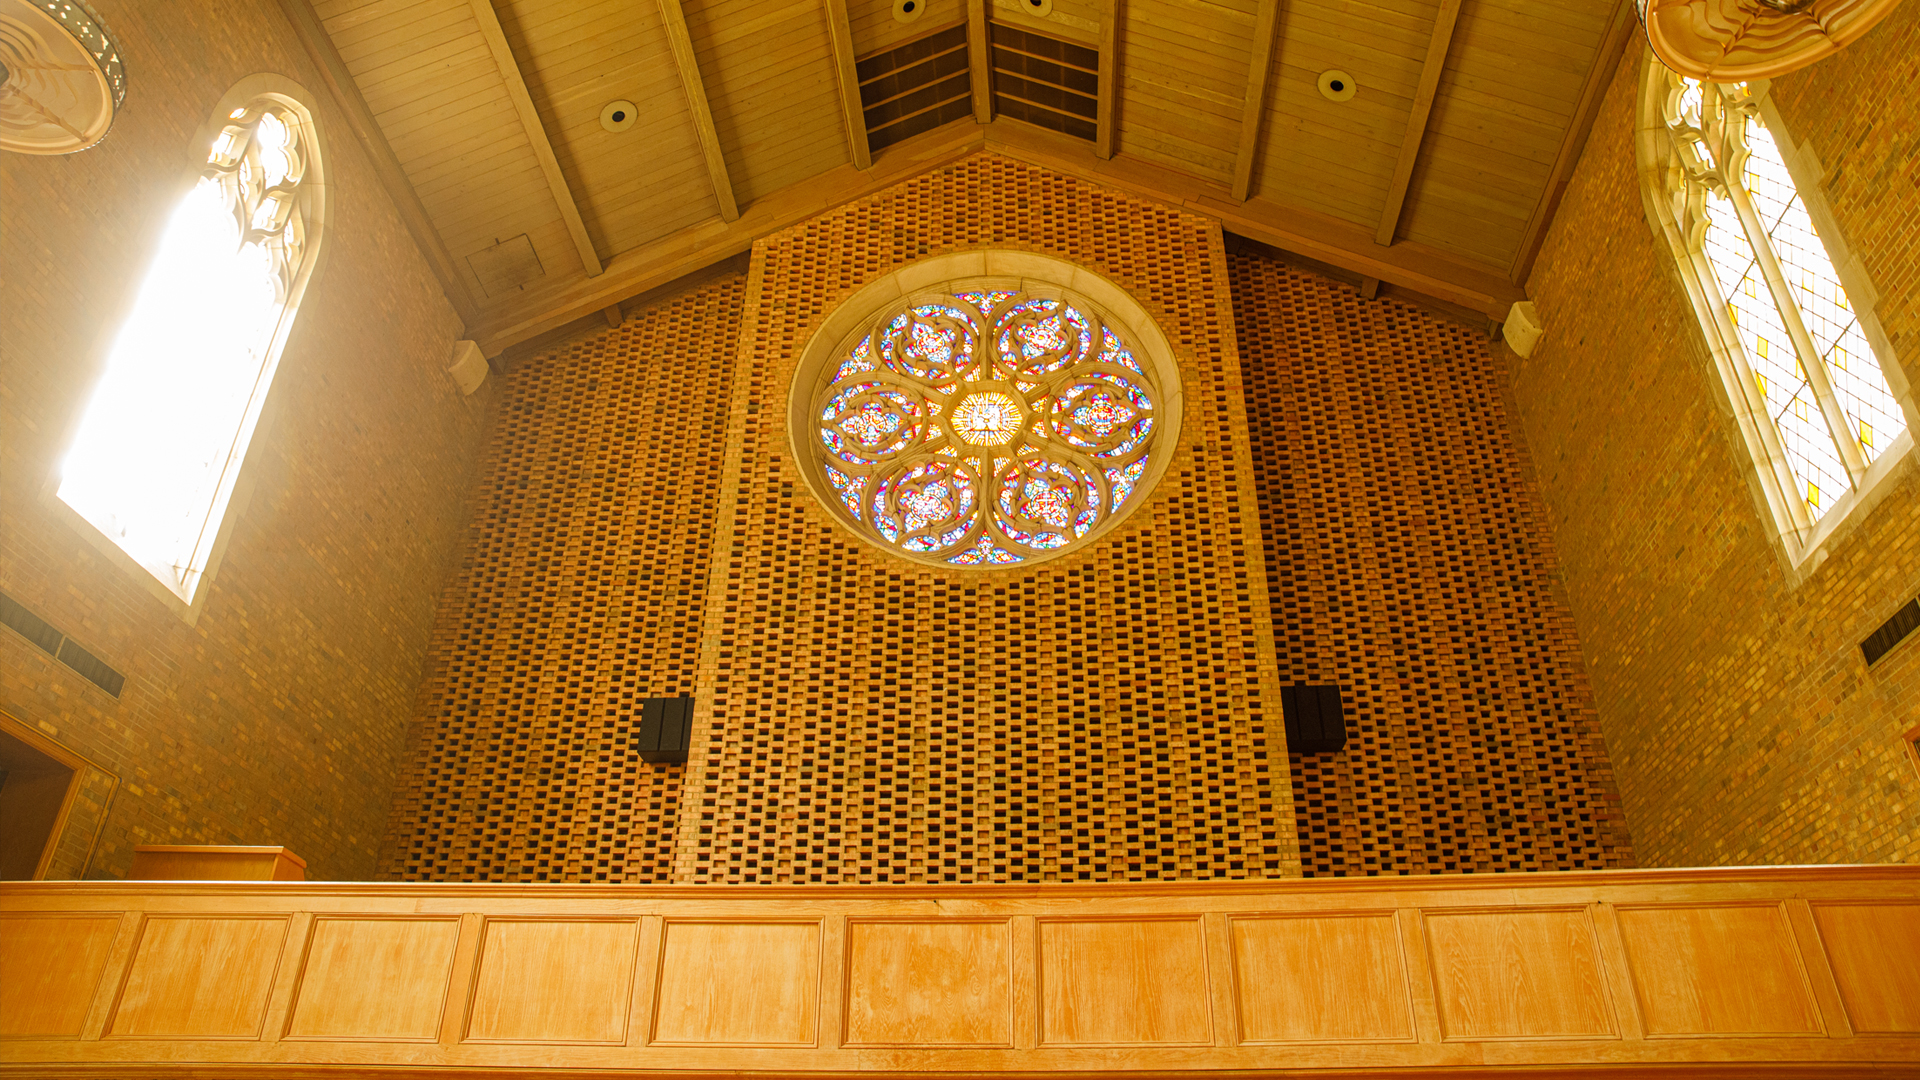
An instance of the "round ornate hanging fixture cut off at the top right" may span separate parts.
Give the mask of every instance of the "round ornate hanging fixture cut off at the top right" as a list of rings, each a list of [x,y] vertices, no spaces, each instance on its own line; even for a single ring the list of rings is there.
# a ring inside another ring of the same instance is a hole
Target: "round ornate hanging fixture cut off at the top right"
[[[1745,83],[1839,52],[1899,0],[1634,0],[1661,63],[1690,79]]]

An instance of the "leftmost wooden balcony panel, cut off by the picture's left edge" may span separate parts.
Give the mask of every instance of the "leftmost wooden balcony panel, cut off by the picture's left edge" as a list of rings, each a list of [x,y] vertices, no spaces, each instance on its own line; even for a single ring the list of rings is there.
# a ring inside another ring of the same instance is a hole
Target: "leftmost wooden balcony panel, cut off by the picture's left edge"
[[[119,915],[0,919],[0,1038],[79,1038]]]

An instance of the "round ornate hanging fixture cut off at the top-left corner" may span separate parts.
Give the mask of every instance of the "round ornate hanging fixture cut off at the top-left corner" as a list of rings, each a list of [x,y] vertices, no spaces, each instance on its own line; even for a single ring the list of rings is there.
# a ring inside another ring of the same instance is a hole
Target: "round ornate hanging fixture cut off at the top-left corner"
[[[0,0],[0,150],[86,150],[125,100],[119,42],[92,8]]]

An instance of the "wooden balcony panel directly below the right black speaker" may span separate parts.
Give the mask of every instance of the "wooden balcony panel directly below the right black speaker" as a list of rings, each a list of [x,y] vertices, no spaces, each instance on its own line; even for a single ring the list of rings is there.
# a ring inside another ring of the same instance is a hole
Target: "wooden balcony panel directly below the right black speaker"
[[[1235,919],[1231,928],[1242,1043],[1413,1038],[1392,911]]]

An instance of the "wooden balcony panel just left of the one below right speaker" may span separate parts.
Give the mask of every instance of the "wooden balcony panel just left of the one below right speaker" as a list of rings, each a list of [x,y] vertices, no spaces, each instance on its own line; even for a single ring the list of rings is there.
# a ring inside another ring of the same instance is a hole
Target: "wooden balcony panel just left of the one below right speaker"
[[[1210,1043],[1198,919],[1043,920],[1041,1045]]]

